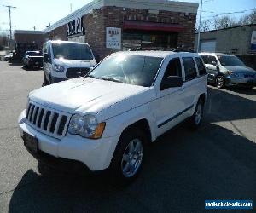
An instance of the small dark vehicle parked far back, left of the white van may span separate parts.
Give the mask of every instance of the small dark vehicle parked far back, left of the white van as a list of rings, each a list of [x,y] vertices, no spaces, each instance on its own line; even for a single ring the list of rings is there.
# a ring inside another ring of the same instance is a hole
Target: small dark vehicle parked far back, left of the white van
[[[40,68],[43,66],[43,55],[40,51],[26,51],[23,58],[23,67],[31,69],[34,67]]]

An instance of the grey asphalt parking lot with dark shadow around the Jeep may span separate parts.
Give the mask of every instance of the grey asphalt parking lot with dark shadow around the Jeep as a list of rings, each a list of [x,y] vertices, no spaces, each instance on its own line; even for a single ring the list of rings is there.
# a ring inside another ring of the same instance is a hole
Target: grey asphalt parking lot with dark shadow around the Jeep
[[[256,210],[256,88],[210,86],[201,129],[182,124],[161,136],[137,180],[120,188],[27,153],[17,118],[43,79],[0,62],[0,212],[203,212],[206,199],[251,199]]]

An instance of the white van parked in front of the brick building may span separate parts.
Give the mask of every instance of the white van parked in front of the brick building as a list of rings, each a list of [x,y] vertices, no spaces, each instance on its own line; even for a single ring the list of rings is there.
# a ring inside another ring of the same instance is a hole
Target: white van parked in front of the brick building
[[[43,46],[44,84],[84,76],[96,66],[88,43],[48,41]]]

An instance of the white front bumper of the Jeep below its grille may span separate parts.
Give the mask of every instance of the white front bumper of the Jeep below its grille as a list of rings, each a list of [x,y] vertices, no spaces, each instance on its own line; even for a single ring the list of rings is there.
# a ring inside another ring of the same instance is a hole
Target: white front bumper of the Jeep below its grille
[[[26,132],[36,137],[38,139],[38,153],[46,153],[54,158],[76,160],[93,171],[108,168],[119,140],[118,136],[90,140],[67,133],[61,140],[55,139],[26,124],[25,112],[21,112],[19,118],[20,136],[22,137],[23,132]],[[40,156],[34,157],[39,158]]]

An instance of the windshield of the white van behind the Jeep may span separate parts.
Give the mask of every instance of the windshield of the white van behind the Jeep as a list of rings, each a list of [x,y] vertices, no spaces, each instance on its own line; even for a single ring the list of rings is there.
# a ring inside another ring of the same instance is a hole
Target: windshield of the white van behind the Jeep
[[[93,60],[89,46],[84,43],[53,43],[52,48],[55,59]]]

